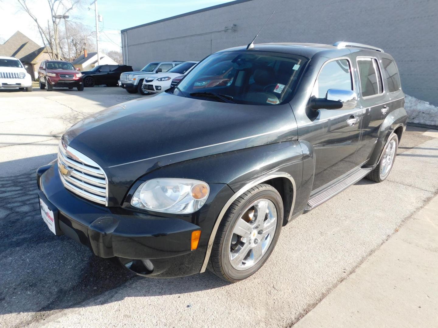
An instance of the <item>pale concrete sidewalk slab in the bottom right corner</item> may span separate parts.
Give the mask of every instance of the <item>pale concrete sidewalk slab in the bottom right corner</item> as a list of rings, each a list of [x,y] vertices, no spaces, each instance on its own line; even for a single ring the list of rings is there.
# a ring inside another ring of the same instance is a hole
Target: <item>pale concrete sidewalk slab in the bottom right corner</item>
[[[293,327],[438,327],[438,195]]]

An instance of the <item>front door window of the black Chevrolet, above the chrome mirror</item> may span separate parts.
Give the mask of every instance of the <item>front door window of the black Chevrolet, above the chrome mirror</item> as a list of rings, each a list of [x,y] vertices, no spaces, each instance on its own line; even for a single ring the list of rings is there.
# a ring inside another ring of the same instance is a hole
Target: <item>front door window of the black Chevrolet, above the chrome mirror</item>
[[[313,88],[312,95],[325,98],[327,90],[353,90],[350,63],[347,59],[338,59],[325,64]]]

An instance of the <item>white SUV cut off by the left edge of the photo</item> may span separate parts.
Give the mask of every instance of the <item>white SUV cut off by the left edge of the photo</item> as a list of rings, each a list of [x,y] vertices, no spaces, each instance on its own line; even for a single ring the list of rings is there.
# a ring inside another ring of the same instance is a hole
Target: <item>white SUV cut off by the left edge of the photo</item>
[[[32,78],[19,59],[0,56],[1,88],[19,88],[20,90],[32,91]]]

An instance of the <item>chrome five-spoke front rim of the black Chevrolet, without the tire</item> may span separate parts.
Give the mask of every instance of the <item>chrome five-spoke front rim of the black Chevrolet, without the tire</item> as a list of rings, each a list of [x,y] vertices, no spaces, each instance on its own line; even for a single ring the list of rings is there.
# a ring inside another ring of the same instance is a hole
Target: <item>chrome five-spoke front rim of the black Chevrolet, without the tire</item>
[[[233,228],[230,262],[236,270],[254,266],[269,248],[277,226],[277,210],[268,199],[258,199],[245,209]]]

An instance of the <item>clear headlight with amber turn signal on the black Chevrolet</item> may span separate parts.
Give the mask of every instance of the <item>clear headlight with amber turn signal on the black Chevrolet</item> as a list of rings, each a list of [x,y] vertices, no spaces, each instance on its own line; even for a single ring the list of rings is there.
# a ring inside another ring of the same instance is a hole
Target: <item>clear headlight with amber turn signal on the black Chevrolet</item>
[[[135,191],[131,205],[162,213],[196,212],[207,200],[210,187],[203,181],[158,178],[143,182]]]

